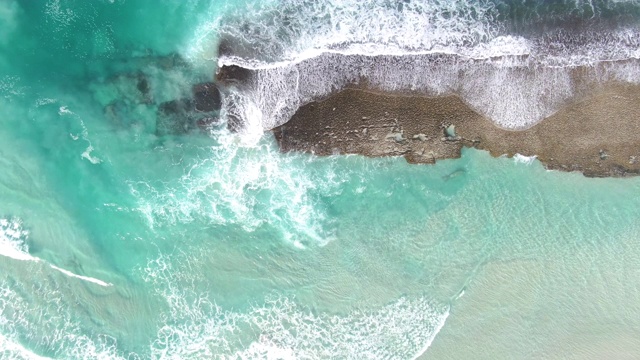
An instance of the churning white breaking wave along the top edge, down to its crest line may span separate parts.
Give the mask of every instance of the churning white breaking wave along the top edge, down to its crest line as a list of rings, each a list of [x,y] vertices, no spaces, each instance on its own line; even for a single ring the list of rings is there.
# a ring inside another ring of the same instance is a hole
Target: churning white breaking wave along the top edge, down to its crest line
[[[583,3],[576,1],[576,13],[581,12],[578,9]],[[514,6],[522,10],[527,7]],[[568,15],[570,5],[563,6]],[[620,11],[615,6],[615,3],[599,4],[603,10]],[[633,26],[609,30],[585,27],[576,33],[549,31],[531,35],[528,41],[509,34],[508,23],[498,20],[501,16],[508,17],[500,14],[495,2],[482,0],[262,2],[204,24],[192,53],[210,47],[212,41],[206,35],[215,33],[231,42],[226,45],[230,53],[222,54],[221,63],[246,68],[291,65],[324,52],[369,56],[444,53],[475,59],[532,55],[541,61],[549,57],[549,62],[560,61],[558,64],[565,65],[577,65],[572,62],[575,60],[627,59],[638,55],[640,39],[638,29]],[[532,16],[520,20],[541,21],[545,14]]]

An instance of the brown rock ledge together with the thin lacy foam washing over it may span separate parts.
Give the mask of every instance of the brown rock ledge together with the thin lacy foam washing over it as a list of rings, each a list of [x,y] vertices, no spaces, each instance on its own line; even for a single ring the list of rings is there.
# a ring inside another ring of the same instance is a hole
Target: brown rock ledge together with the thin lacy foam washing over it
[[[246,51],[220,44],[227,60],[215,81],[235,93],[227,126],[242,131],[251,103],[283,152],[429,164],[474,147],[588,177],[640,174],[637,60],[549,66],[530,56],[323,53],[249,69],[234,63]]]

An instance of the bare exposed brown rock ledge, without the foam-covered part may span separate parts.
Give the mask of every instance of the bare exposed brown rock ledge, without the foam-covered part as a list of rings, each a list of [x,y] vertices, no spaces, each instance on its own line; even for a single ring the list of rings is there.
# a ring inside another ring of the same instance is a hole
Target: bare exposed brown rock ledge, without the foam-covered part
[[[494,156],[537,155],[549,169],[585,176],[640,174],[640,86],[606,84],[527,130],[505,130],[458,96],[346,89],[302,106],[273,129],[282,151],[404,156],[410,163],[460,157],[463,146]]]

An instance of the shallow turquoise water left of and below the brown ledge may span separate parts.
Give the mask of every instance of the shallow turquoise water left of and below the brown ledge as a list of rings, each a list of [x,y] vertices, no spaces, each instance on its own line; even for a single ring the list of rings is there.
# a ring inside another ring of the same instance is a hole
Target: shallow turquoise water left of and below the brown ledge
[[[205,24],[232,6],[0,5],[0,357],[640,347],[640,179],[158,134],[158,104],[211,78]]]

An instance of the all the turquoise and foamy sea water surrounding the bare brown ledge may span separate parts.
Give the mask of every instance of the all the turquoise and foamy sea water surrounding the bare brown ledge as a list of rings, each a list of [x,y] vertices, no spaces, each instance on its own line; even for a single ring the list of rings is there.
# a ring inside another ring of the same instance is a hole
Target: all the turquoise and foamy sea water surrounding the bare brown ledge
[[[362,69],[535,122],[578,91],[571,66],[636,81],[638,10],[0,2],[0,358],[637,358],[640,178],[473,149],[435,165],[282,154],[263,129]],[[441,53],[459,59],[421,58]],[[419,61],[441,77],[409,81]],[[163,117],[223,64],[259,76],[223,94],[221,124]],[[479,84],[514,84],[499,96],[515,100],[474,97]],[[531,107],[525,85],[559,97]]]

